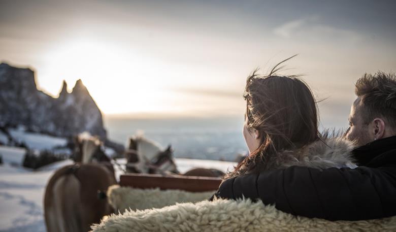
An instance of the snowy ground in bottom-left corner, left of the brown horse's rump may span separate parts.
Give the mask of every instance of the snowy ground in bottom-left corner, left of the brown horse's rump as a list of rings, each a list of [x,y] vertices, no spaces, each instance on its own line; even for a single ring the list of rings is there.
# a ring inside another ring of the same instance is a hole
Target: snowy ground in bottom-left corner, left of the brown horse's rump
[[[50,172],[0,166],[0,230],[45,231],[43,195]]]

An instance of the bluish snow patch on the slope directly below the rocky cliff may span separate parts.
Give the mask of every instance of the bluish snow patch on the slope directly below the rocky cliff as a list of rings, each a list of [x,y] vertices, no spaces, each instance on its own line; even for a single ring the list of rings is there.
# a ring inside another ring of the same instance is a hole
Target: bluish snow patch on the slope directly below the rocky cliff
[[[23,129],[10,129],[11,137],[18,141],[24,142],[30,149],[49,150],[57,146],[65,146],[67,139],[43,135],[39,133],[26,132]]]

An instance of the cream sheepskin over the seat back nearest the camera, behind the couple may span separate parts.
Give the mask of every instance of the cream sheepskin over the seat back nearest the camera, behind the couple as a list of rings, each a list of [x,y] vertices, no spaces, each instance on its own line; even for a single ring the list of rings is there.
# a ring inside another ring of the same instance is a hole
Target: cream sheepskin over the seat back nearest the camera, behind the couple
[[[296,217],[260,201],[217,199],[129,210],[92,225],[92,231],[396,231],[396,217],[331,222]]]

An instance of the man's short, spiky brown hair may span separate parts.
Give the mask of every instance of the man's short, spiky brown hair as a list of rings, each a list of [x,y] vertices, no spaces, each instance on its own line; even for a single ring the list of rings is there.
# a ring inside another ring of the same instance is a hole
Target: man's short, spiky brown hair
[[[396,76],[394,73],[364,74],[355,84],[363,106],[362,118],[369,124],[380,117],[396,131]]]

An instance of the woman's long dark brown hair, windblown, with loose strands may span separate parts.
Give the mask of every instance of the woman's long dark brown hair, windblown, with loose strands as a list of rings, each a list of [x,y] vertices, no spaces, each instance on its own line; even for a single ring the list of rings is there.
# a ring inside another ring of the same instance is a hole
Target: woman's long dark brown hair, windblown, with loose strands
[[[266,160],[277,152],[319,140],[317,104],[311,89],[298,76],[276,74],[282,68],[279,65],[288,59],[278,63],[268,75],[259,75],[256,69],[247,78],[247,127],[258,130],[260,144],[225,178],[271,169]]]

